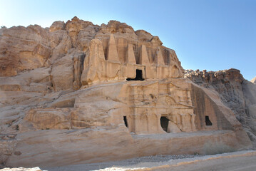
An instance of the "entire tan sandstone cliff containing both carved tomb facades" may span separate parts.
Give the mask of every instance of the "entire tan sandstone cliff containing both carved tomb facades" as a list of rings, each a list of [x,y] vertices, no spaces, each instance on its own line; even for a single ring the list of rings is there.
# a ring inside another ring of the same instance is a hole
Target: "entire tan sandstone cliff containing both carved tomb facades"
[[[0,161],[58,166],[251,147],[158,36],[74,17],[0,29]]]

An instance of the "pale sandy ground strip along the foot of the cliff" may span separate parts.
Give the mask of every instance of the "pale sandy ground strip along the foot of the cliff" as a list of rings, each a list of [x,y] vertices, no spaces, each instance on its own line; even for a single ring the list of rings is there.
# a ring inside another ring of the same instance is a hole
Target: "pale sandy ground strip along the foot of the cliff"
[[[48,171],[124,171],[124,170],[155,170],[155,171],[256,171],[256,151],[228,152],[219,155],[158,155],[136,157],[116,162],[101,162],[85,165],[43,168]]]

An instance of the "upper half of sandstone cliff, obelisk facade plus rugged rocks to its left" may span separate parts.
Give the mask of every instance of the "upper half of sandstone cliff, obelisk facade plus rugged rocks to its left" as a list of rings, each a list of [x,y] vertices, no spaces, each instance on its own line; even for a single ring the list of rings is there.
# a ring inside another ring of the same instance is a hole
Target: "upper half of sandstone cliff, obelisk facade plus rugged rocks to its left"
[[[135,69],[145,70],[145,78],[183,76],[175,52],[162,46],[158,36],[143,30],[134,31],[119,21],[97,26],[74,17],[66,24],[56,21],[50,28],[19,26],[1,28],[0,33],[0,76],[51,67],[54,90],[78,89],[81,83],[86,85],[94,79],[134,78]],[[96,46],[98,50],[93,52]],[[101,61],[91,59],[96,53]],[[85,57],[86,63],[83,63]],[[88,71],[91,65],[95,65],[95,71]],[[65,83],[61,81],[63,78]]]

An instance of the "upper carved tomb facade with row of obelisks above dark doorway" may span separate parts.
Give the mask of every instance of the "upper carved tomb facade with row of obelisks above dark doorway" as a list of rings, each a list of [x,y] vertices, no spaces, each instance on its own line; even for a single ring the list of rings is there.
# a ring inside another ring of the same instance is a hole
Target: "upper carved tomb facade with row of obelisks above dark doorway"
[[[116,21],[110,21],[108,25],[115,24]],[[125,81],[126,78],[135,78],[136,71],[141,72],[143,79],[183,76],[183,68],[175,52],[162,46],[158,37],[145,31],[119,31],[122,30],[101,29],[90,42],[83,65],[86,70],[81,76],[83,85],[95,81]]]

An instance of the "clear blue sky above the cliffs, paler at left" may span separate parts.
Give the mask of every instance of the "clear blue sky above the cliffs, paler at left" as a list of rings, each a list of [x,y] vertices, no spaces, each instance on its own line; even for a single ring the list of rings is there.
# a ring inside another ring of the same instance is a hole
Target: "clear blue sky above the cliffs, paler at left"
[[[0,0],[0,26],[118,20],[159,36],[185,69],[256,76],[256,0]]]

